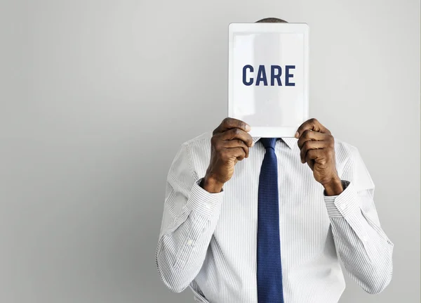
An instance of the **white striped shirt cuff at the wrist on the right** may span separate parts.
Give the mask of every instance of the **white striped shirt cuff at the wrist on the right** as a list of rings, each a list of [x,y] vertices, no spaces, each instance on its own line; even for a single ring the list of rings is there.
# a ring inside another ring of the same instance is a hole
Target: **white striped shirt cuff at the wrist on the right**
[[[339,195],[326,195],[323,191],[329,217],[347,217],[359,209],[358,194],[353,183],[342,180],[342,186],[344,190]]]

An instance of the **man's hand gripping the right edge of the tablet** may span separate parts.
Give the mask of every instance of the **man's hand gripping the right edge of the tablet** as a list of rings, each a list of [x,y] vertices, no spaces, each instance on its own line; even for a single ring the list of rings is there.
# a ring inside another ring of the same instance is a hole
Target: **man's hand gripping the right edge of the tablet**
[[[336,171],[335,139],[330,131],[313,118],[298,127],[295,138],[298,138],[301,162],[309,165],[314,179],[325,188],[326,195],[342,193],[342,182]]]

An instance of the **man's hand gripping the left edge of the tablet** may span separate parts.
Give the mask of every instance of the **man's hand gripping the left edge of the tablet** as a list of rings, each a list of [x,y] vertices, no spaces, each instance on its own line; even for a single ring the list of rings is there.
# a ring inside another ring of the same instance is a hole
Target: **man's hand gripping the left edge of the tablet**
[[[254,145],[248,131],[250,125],[233,118],[225,118],[213,131],[210,163],[203,179],[203,189],[209,193],[222,191],[224,183],[234,174],[236,162],[248,157],[248,148]]]

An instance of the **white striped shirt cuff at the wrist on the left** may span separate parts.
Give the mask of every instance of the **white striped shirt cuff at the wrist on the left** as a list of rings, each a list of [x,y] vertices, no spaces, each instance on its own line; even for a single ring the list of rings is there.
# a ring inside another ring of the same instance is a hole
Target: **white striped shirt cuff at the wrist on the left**
[[[200,183],[202,179],[194,182],[187,204],[194,212],[198,212],[206,217],[212,217],[222,203],[224,191],[222,190],[220,193],[209,193],[201,188]]]

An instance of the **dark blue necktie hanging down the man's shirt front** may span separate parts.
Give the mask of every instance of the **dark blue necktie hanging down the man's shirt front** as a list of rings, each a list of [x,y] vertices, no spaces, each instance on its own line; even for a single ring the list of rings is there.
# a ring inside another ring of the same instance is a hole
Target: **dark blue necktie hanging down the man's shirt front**
[[[260,141],[266,153],[258,193],[258,302],[283,303],[276,138]]]

